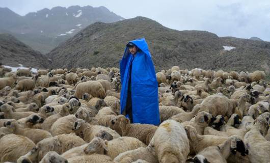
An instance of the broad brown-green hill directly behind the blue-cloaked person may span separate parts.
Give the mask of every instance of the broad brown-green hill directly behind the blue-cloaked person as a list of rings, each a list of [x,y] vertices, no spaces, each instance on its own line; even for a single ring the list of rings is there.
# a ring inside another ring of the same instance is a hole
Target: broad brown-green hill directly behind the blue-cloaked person
[[[270,65],[270,42],[172,30],[145,17],[96,22],[47,56],[55,68],[119,67],[126,43],[141,37],[148,43],[156,70],[178,65],[181,69],[252,71]]]

